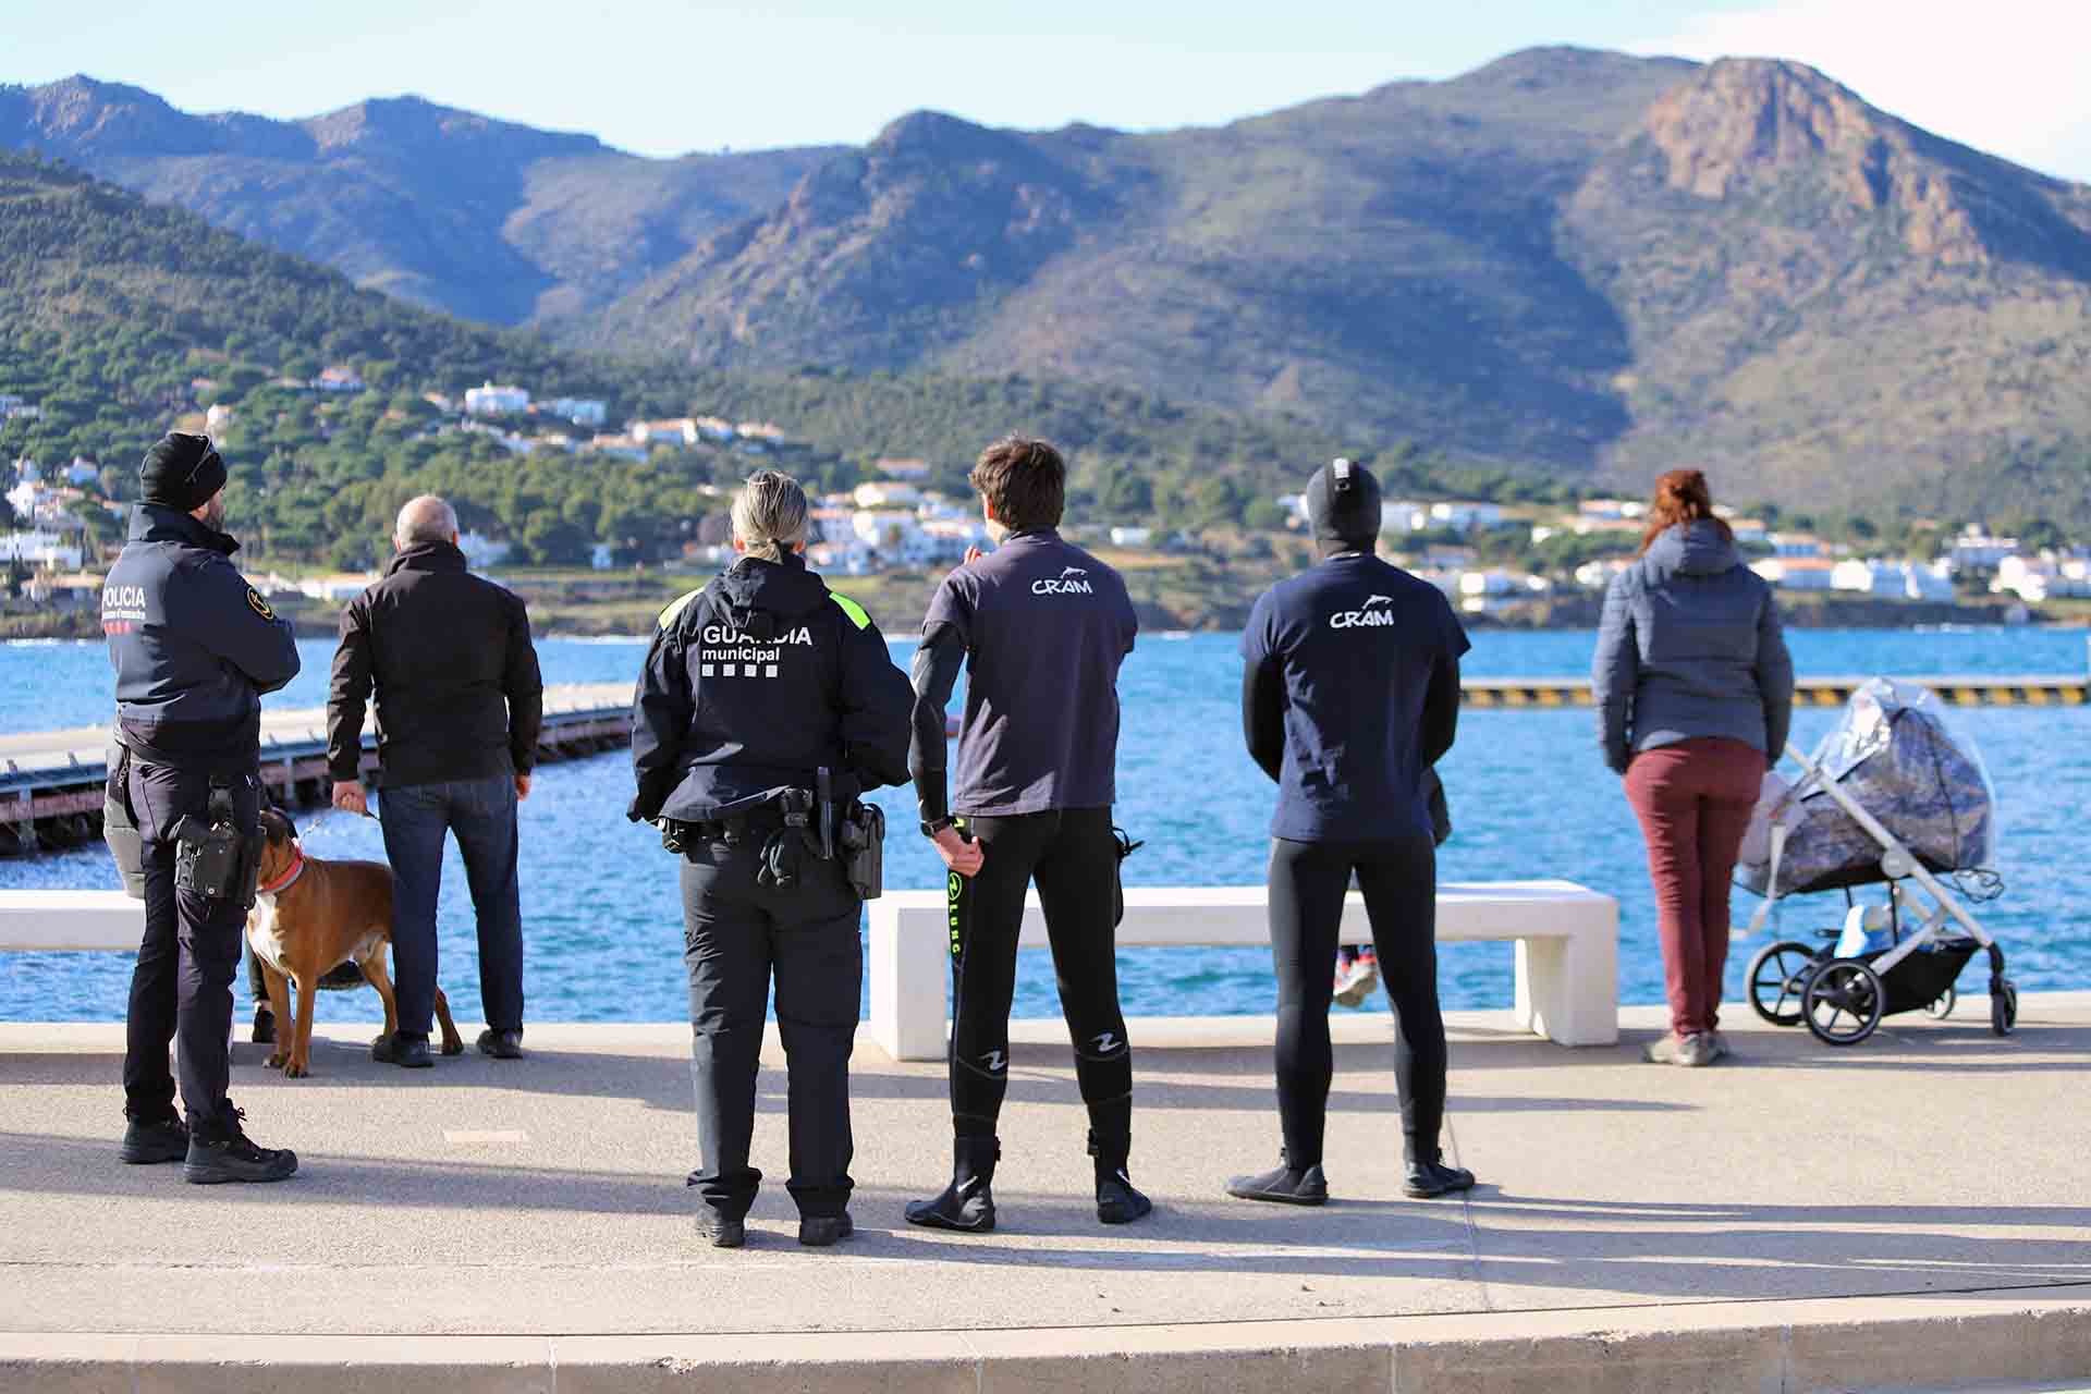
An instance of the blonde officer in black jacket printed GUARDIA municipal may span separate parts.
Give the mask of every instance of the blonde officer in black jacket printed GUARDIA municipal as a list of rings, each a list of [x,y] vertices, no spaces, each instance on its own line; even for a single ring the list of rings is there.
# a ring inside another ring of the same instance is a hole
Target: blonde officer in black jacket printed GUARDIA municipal
[[[849,1223],[861,899],[836,849],[857,794],[907,780],[914,692],[857,604],[805,568],[807,504],[772,470],[734,499],[742,556],[661,614],[631,713],[638,794],[680,851],[698,1233],[744,1241],[763,1005],[776,968],[799,1244]]]

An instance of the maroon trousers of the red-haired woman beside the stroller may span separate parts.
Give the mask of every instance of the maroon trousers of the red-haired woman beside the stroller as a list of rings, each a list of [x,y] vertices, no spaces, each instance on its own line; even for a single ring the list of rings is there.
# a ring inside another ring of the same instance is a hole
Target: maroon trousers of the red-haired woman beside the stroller
[[[1729,882],[1763,782],[1765,752],[1723,736],[1641,750],[1627,765],[1662,922],[1671,1030],[1681,1037],[1721,1024]]]

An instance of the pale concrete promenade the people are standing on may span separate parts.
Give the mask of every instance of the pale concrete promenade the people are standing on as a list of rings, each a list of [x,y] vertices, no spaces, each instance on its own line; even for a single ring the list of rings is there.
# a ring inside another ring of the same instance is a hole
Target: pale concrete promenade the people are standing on
[[[1830,1049],[1731,1007],[1738,1060],[1675,1070],[1639,1064],[1652,1009],[1579,1051],[1455,1014],[1449,1149],[1483,1185],[1407,1202],[1384,1003],[1340,1014],[1326,1210],[1219,1189],[1278,1149],[1267,1020],[1135,1022],[1156,1214],[1125,1229],[1094,1223],[1058,1022],[1029,1022],[985,1237],[901,1221],[947,1168],[943,1070],[866,1039],[859,1233],[826,1252],[792,1241],[774,1041],[769,1183],[717,1252],[680,1024],[410,1074],[322,1020],[309,1081],[240,1045],[234,1099],[303,1172],[215,1189],[115,1162],[119,1026],[6,1024],[0,1388],[2091,1386],[2091,993],[1986,1020]]]

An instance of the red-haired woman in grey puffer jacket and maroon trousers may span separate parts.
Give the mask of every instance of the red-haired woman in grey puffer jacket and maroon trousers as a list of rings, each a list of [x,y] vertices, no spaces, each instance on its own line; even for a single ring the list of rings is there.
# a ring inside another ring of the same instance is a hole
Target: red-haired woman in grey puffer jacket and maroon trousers
[[[1786,748],[1794,660],[1771,587],[1736,554],[1698,470],[1656,481],[1641,556],[1612,579],[1598,633],[1604,761],[1627,777],[1662,922],[1662,1064],[1727,1053],[1721,976],[1729,880],[1765,769]]]

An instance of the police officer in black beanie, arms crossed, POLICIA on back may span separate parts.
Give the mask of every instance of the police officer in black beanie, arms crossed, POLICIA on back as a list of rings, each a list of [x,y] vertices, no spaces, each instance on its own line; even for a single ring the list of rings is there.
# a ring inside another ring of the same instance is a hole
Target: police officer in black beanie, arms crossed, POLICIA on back
[[[297,1156],[257,1147],[226,1097],[232,978],[253,905],[261,694],[297,677],[297,642],[232,566],[226,462],[169,435],[138,466],[130,541],[102,585],[117,671],[111,794],[136,826],[144,943],[123,1055],[125,1162],[184,1162],[197,1183],[282,1181]],[[167,1043],[180,1039],[174,1112]]]

